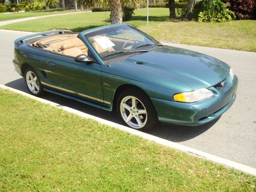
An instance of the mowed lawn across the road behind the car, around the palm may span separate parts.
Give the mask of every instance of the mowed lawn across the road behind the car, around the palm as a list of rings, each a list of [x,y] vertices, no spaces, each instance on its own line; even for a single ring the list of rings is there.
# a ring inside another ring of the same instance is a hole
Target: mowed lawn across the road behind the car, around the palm
[[[31,32],[53,29],[81,32],[89,28],[109,25],[109,15],[110,12],[82,12],[14,23],[0,28]],[[198,23],[169,20],[168,15],[168,8],[149,9],[149,34],[159,41],[256,52],[256,20]],[[146,32],[146,8],[135,10],[133,20],[127,23]]]

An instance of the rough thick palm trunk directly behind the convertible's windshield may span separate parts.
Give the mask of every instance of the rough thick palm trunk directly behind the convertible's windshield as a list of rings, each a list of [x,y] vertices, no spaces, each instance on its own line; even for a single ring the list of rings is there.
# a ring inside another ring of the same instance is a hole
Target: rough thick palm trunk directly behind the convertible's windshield
[[[121,0],[109,0],[112,24],[122,23],[122,4]]]

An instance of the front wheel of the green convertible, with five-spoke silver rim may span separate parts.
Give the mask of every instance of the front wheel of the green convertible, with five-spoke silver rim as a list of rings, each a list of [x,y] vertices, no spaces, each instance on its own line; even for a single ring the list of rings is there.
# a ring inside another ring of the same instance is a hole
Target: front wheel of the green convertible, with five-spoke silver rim
[[[125,126],[149,130],[158,123],[156,108],[148,95],[138,88],[130,88],[117,99],[117,112]]]

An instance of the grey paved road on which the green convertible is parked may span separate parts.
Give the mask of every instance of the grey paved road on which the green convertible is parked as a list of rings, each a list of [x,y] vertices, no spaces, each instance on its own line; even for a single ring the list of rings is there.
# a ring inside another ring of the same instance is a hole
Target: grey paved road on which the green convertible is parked
[[[13,42],[16,38],[28,34],[28,32],[0,30],[2,42],[0,45],[0,84],[24,92],[28,92],[24,80],[16,74],[12,65]],[[237,99],[222,117],[209,124],[197,127],[159,124],[156,129],[148,133],[256,168],[256,53],[180,44],[171,45],[214,56],[232,66],[240,80]],[[50,93],[44,96],[44,99],[120,123],[115,112],[100,110]]]

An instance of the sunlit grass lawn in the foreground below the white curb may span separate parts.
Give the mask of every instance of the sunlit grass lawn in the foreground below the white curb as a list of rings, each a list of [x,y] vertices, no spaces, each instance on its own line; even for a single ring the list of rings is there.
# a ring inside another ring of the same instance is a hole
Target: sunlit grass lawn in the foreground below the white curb
[[[0,106],[0,191],[255,191],[254,176],[11,91]]]

